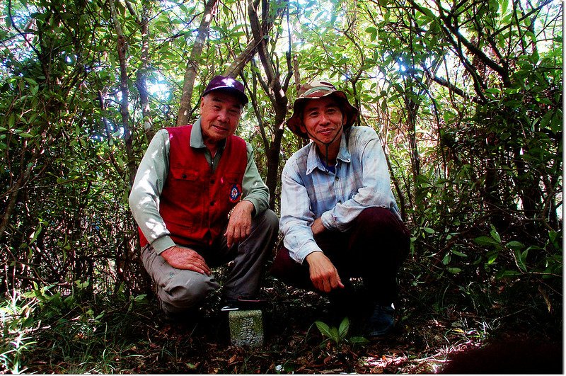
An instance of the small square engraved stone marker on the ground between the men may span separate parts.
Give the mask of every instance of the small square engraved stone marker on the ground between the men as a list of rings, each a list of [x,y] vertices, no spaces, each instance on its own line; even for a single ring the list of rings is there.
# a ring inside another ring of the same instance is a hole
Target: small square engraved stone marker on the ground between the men
[[[236,346],[263,346],[263,318],[259,309],[230,311],[230,338]]]

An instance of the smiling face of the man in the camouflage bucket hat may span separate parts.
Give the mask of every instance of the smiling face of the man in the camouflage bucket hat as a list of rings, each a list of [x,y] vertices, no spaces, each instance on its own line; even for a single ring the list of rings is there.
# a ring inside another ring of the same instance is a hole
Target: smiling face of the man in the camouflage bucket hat
[[[301,130],[319,146],[340,144],[344,122],[344,115],[334,98],[312,99],[303,110]]]

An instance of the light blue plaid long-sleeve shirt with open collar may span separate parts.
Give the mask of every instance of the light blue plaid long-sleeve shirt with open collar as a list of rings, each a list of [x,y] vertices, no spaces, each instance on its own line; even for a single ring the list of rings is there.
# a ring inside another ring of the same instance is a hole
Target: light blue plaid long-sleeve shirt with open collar
[[[318,217],[327,229],[341,232],[366,207],[386,207],[401,219],[375,130],[362,126],[346,130],[335,169],[335,173],[326,171],[314,142],[293,154],[283,168],[279,227],[284,246],[299,263],[308,253],[321,251],[311,230]]]

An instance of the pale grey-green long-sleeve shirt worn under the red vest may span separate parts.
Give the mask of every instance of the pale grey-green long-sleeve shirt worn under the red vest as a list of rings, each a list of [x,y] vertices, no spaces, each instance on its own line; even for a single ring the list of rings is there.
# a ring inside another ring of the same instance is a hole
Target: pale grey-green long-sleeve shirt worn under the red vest
[[[167,130],[159,130],[146,150],[137,169],[134,186],[129,193],[129,207],[134,215],[141,232],[149,244],[161,253],[175,245],[169,237],[169,230],[159,214],[159,196],[163,192],[169,172],[169,135]],[[204,149],[204,156],[212,169],[220,162],[224,147],[221,147],[212,158],[202,139],[200,118],[192,125],[190,147]],[[253,204],[255,215],[264,212],[269,207],[270,193],[263,182],[258,167],[253,159],[253,149],[246,142],[248,164],[242,181],[243,200]]]

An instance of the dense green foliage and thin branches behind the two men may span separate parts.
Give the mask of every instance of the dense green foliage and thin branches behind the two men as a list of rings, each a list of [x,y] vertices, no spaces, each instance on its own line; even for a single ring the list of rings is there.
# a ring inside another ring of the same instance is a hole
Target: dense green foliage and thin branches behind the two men
[[[195,67],[191,119],[212,76],[246,82],[252,101],[238,132],[256,149],[276,210],[278,171],[302,145],[281,111],[289,115],[299,82],[330,79],[383,141],[412,229],[407,280],[467,295],[470,282],[512,278],[541,292],[536,304],[560,304],[559,1],[19,0],[0,9],[1,291],[36,282],[68,292],[76,280],[96,293],[149,290],[126,198],[146,131],[175,124]]]

